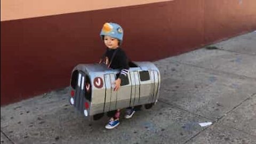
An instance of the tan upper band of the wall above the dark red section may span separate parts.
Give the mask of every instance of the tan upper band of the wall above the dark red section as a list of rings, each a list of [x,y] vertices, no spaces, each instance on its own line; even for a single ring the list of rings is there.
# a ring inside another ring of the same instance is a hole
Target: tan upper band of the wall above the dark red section
[[[1,0],[1,21],[172,0]]]

